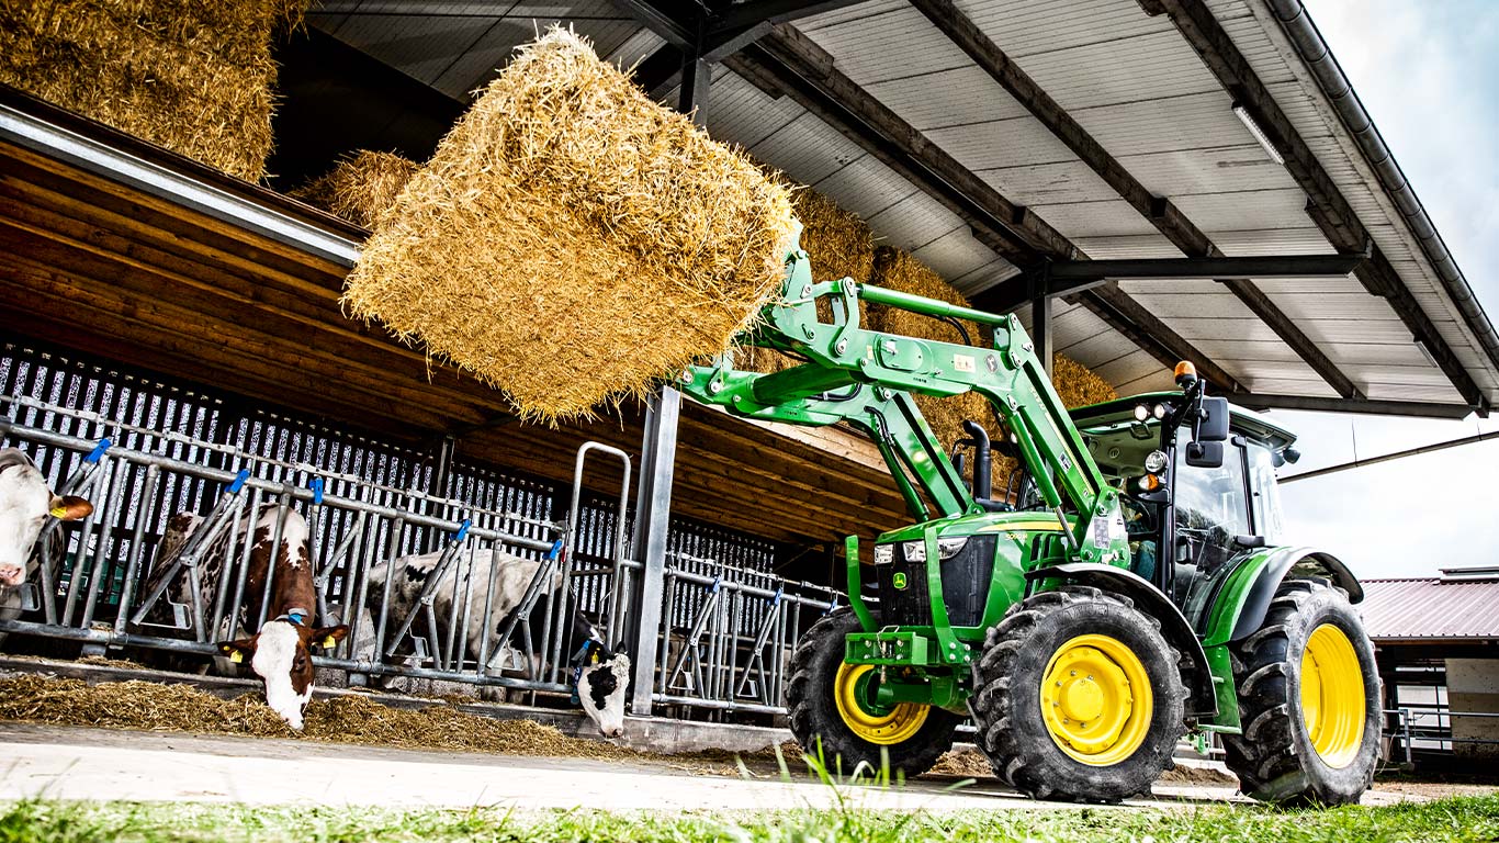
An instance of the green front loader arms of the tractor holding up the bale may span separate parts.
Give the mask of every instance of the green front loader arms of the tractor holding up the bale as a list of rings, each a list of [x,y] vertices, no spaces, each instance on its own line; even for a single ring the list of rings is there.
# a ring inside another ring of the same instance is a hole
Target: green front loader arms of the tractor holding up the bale
[[[1015,316],[848,279],[814,284],[802,250],[790,252],[785,266],[779,297],[742,340],[806,363],[773,374],[744,372],[733,368],[730,352],[684,372],[682,392],[747,418],[806,426],[848,422],[878,446],[917,520],[977,513],[983,504],[973,498],[908,393],[979,392],[1013,436],[1046,507],[1070,524],[1069,555],[1127,564],[1103,558],[1120,552],[1109,530],[1117,519],[1123,524],[1118,494],[1106,486]],[[820,298],[830,302],[832,322],[818,320]],[[866,330],[859,324],[860,300],[989,326],[994,342],[982,348]],[[1078,516],[1075,522],[1064,516],[1069,508]]]

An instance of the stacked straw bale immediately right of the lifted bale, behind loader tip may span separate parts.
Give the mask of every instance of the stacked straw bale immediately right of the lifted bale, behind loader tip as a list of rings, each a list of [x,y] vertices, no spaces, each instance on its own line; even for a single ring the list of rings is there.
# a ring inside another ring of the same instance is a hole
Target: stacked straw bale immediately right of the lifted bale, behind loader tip
[[[811,262],[812,280],[851,278],[868,284],[874,273],[874,231],[859,214],[845,212],[811,188],[794,188],[791,206],[802,224],[802,249]],[[817,314],[820,320],[832,321],[832,306],[826,298],[817,302]],[[744,348],[736,362],[741,369],[766,374],[799,363],[779,351],[754,346]]]

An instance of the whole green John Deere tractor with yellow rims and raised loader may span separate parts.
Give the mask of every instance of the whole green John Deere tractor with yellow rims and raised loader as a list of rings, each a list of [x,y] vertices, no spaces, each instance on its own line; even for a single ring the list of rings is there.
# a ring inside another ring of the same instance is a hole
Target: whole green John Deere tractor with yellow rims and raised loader
[[[992,344],[865,330],[860,302],[970,320]],[[726,354],[684,372],[684,392],[750,418],[851,424],[916,520],[868,555],[847,540],[848,608],[791,663],[803,747],[845,772],[917,776],[971,717],[1004,782],[1108,802],[1148,792],[1184,734],[1217,732],[1256,798],[1358,800],[1379,680],[1358,580],[1283,543],[1274,471],[1297,456],[1292,434],[1207,396],[1186,364],[1178,392],[1069,414],[1015,316],[814,284],[800,250],[763,316],[745,342],[805,363],[744,372]],[[911,393],[970,390],[992,420],[967,422],[961,453],[946,453]],[[1021,466],[1003,495],[994,452]]]

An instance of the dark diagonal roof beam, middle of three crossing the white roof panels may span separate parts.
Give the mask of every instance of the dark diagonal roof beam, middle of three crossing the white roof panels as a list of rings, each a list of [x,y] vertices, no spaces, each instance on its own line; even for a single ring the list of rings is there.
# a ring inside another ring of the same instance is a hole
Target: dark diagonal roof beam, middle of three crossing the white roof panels
[[[943,34],[968,54],[995,82],[1010,93],[1052,135],[1084,160],[1105,183],[1154,225],[1168,240],[1190,258],[1222,258],[1223,252],[1171,200],[1151,194],[1108,150],[1099,144],[1057,100],[1030,78],[994,40],[983,33],[952,0],[911,0]],[[1261,318],[1343,398],[1363,393],[1316,346],[1295,322],[1270,300],[1249,276],[1253,273],[1223,272],[1222,282]],[[1339,273],[1339,274],[1346,274]],[[1055,278],[1055,273],[1054,273]]]

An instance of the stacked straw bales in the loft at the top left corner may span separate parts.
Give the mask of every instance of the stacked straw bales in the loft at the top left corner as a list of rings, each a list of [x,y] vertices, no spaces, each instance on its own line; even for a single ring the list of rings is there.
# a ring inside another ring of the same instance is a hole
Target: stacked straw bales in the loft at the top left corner
[[[271,152],[271,40],[304,0],[0,3],[0,82],[250,182]]]

